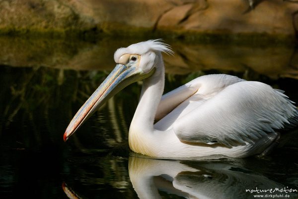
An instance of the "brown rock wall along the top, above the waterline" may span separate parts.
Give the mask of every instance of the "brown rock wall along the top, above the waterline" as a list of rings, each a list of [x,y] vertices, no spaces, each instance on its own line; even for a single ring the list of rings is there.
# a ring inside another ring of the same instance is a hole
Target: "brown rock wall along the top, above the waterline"
[[[296,38],[294,0],[0,0],[0,32],[136,30]]]

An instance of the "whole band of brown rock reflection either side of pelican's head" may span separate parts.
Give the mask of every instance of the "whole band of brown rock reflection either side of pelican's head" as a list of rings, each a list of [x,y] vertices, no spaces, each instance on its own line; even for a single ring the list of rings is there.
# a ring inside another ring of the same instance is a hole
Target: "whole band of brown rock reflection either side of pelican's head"
[[[111,70],[115,66],[114,51],[141,40],[102,38],[86,42],[0,37],[0,65]],[[170,74],[215,69],[241,73],[248,71],[274,79],[298,79],[298,52],[294,45],[185,44],[179,41],[166,43],[175,52],[174,56],[164,57],[166,72]]]

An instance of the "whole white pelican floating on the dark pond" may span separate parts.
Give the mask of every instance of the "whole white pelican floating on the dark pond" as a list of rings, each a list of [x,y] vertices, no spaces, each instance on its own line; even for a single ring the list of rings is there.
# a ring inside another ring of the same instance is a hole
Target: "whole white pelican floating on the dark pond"
[[[164,158],[246,157],[271,149],[279,130],[298,125],[298,109],[283,91],[235,76],[201,76],[162,96],[161,52],[173,54],[161,40],[116,50],[116,67],[75,114],[64,141],[99,106],[140,80],[143,87],[128,138],[136,153]]]

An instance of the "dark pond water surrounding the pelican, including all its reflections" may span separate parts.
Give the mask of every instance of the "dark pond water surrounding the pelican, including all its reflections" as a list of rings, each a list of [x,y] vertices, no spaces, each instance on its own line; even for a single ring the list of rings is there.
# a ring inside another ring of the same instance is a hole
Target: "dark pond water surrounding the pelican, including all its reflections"
[[[256,194],[246,190],[275,188],[284,188],[271,194],[276,198],[298,197],[290,193],[298,189],[295,132],[266,157],[166,160],[131,152],[127,138],[141,91],[137,83],[64,143],[74,113],[114,67],[114,50],[134,42],[0,38],[1,199],[246,199]],[[164,57],[165,91],[199,75],[227,73],[263,81],[298,101],[298,56],[291,46],[170,45],[176,54]]]

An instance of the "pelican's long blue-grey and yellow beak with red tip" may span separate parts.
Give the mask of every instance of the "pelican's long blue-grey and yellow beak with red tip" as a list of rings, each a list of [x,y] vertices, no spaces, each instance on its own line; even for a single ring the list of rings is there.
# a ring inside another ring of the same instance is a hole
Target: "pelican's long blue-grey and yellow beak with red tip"
[[[154,70],[145,74],[139,67],[117,64],[114,70],[74,115],[64,133],[64,142],[108,99],[133,82],[149,77],[153,72]]]

